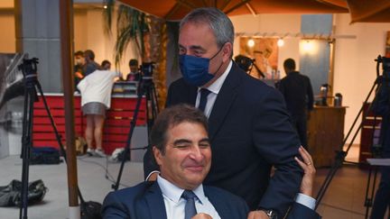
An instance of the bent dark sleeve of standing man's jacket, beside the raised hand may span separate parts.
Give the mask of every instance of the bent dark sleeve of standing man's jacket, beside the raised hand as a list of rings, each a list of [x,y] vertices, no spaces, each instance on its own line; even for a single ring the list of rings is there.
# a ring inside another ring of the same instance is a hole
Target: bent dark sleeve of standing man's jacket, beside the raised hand
[[[259,154],[274,164],[275,171],[259,207],[274,209],[282,218],[301,185],[302,169],[294,160],[299,157],[300,141],[286,112],[283,96],[271,88],[264,96],[257,106],[253,139]]]

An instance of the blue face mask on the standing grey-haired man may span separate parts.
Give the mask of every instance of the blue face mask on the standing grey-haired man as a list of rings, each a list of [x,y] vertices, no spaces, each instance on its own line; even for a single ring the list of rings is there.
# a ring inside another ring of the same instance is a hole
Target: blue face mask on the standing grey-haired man
[[[220,50],[222,50],[222,47]],[[210,59],[189,55],[180,55],[179,64],[184,80],[190,85],[196,87],[202,87],[206,85],[212,78],[214,78],[214,75],[209,73],[209,61],[216,57],[220,50],[218,50],[217,54],[215,54]],[[221,63],[219,68],[222,66],[222,64],[223,63]]]

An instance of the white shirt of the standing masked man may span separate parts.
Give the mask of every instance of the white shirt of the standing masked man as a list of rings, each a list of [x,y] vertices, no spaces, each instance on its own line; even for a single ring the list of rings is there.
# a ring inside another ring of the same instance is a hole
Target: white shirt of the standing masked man
[[[225,82],[225,79],[228,77],[228,73],[233,65],[233,61],[230,60],[228,64],[228,68],[226,68],[225,72],[216,80],[214,81],[209,87],[203,87],[207,88],[210,93],[208,96],[208,101],[204,110],[204,114],[209,118],[209,115],[211,114],[211,109],[214,106],[214,103],[217,99],[218,93],[220,88],[222,87],[223,83]],[[198,108],[200,105],[200,88],[198,88],[198,95],[195,102],[195,106]]]

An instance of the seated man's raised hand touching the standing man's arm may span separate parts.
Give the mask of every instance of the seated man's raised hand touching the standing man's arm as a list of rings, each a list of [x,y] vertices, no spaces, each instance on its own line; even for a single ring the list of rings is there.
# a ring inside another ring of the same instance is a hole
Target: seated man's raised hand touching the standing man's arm
[[[300,191],[302,194],[312,197],[312,187],[316,169],[314,168],[314,164],[309,152],[304,150],[302,146],[300,147],[299,152],[303,161],[299,160],[297,157],[295,157],[295,160],[298,162],[304,172]]]

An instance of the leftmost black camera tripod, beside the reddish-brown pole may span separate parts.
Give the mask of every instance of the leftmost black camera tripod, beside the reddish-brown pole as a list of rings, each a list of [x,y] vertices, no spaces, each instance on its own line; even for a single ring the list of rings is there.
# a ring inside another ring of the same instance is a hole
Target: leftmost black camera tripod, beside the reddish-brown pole
[[[46,97],[43,95],[41,84],[38,81],[37,73],[38,59],[23,59],[23,63],[18,66],[19,70],[23,72],[24,82],[24,107],[23,107],[23,132],[22,132],[22,152],[21,158],[23,160],[22,167],[22,191],[21,191],[21,205],[20,205],[20,219],[27,219],[27,207],[28,207],[28,181],[29,181],[29,167],[30,167],[30,156],[32,150],[32,122],[33,122],[33,103],[38,102],[37,90],[43,100],[43,105],[46,109],[46,113],[51,121],[51,127],[54,130],[56,140],[60,145],[60,153],[63,156],[65,162],[67,161],[66,151],[61,142],[60,133],[57,130],[57,126],[52,118],[49,106],[46,102]],[[81,203],[81,214],[88,215],[93,212],[94,209],[90,209],[93,202],[86,202],[81,196],[81,192],[78,186],[78,195]],[[95,215],[94,218],[99,218]]]

